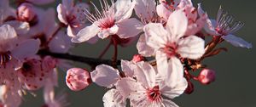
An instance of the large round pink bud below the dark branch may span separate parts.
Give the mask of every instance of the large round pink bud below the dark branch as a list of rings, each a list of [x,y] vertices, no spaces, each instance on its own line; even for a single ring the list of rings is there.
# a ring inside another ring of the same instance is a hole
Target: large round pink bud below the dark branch
[[[67,70],[66,84],[73,91],[80,91],[91,83],[90,73],[80,68]]]

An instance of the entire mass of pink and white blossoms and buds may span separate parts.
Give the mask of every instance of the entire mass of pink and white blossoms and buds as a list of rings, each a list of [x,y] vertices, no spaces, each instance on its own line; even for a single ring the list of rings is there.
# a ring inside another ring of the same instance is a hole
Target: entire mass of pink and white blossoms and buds
[[[91,83],[107,87],[105,107],[177,107],[172,99],[193,93],[192,80],[214,82],[215,71],[202,60],[227,50],[218,44],[252,48],[233,35],[244,24],[222,7],[215,20],[191,0],[99,0],[100,8],[61,0],[56,8],[40,8],[53,2],[16,0],[13,8],[9,0],[0,1],[0,106],[18,107],[26,93],[40,88],[44,107],[67,106],[65,94],[55,97],[58,67],[67,70],[67,87],[73,91]],[[110,40],[98,59],[69,54],[73,43],[91,45],[98,39]],[[137,54],[118,59],[118,46],[131,42],[137,42]],[[102,59],[111,45],[113,58]],[[85,62],[92,70],[73,68],[66,59]]]

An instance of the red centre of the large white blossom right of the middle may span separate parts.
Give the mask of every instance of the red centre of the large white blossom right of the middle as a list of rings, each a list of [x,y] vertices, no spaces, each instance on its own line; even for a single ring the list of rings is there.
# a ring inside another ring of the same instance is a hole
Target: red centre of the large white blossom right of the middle
[[[167,57],[172,57],[177,55],[177,45],[175,42],[167,43],[166,47],[164,48],[164,53],[167,54]]]

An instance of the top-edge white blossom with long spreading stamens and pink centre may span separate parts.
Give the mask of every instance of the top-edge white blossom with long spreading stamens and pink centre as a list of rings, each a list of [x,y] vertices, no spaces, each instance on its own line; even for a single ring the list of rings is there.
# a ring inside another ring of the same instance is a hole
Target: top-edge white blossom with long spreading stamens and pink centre
[[[84,27],[76,37],[73,37],[73,42],[85,42],[92,37],[106,38],[111,35],[117,35],[120,38],[135,37],[142,31],[142,24],[135,18],[131,18],[134,4],[131,0],[118,0],[112,2],[109,6],[103,0],[102,12],[96,8],[96,14],[85,12],[87,19],[92,25]]]

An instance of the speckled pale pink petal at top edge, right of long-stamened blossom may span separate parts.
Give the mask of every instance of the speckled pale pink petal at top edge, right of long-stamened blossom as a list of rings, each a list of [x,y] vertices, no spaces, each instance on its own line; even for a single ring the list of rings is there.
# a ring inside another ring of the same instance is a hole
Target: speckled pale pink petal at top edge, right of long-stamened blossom
[[[155,13],[154,0],[135,0],[134,10],[137,16],[143,20],[151,20]]]

